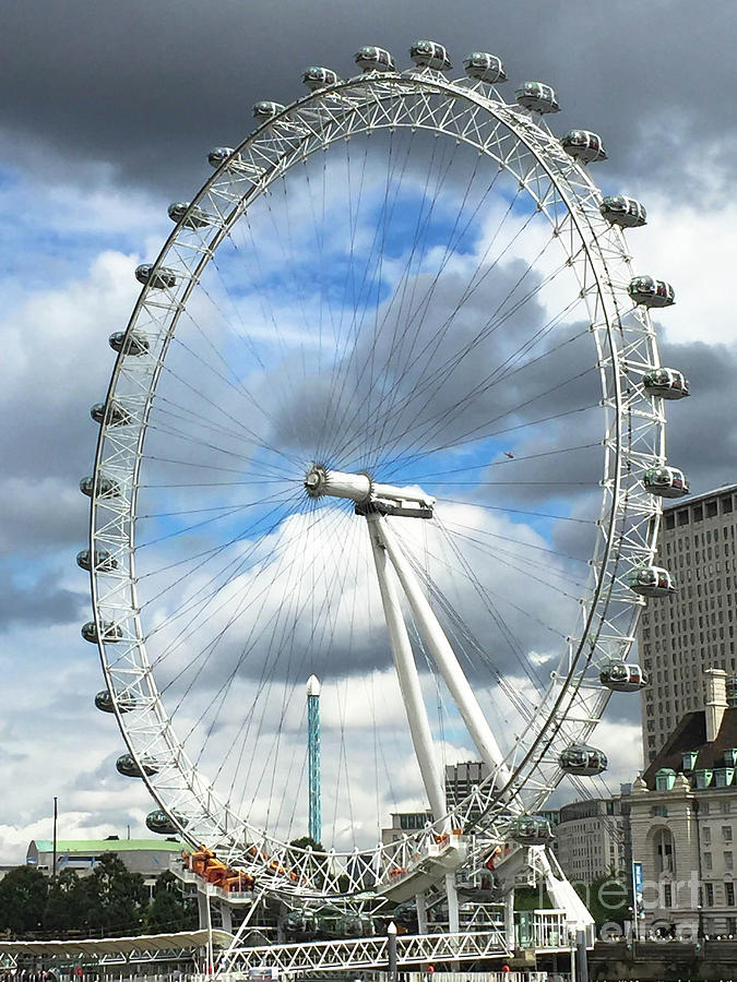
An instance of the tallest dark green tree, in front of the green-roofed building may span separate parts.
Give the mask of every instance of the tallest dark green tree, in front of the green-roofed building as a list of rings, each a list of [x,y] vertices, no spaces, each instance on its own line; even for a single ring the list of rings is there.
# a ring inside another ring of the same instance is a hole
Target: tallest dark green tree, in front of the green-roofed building
[[[130,873],[115,852],[105,852],[84,885],[86,923],[103,934],[139,934],[147,907],[140,873]]]

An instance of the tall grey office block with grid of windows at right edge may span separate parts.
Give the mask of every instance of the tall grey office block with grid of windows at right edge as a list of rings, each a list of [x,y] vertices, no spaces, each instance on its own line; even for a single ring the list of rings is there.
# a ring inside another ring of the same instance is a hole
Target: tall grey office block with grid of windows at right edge
[[[703,708],[704,667],[737,671],[737,484],[664,508],[656,563],[677,592],[650,600],[638,633],[645,766],[678,721]]]

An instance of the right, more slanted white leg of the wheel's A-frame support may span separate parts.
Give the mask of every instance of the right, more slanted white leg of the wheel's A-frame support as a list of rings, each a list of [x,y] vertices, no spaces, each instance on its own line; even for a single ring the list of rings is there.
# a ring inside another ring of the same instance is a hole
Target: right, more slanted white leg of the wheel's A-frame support
[[[503,763],[499,744],[402,547],[385,518],[376,516],[372,524],[378,531],[379,541],[385,547],[389,559],[396,570],[402,589],[406,594],[415,615],[417,627],[421,631],[425,642],[432,652],[435,662],[459,707],[471,739],[489,769],[497,774],[499,781],[506,783],[509,780],[510,771]]]

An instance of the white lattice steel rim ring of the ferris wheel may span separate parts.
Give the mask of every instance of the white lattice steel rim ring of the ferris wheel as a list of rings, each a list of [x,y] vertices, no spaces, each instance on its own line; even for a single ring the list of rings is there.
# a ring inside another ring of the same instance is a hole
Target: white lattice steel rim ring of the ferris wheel
[[[129,335],[145,333],[150,349],[144,357],[126,356],[123,349],[112,373],[108,400],[129,415],[129,422],[100,428],[95,474],[115,481],[118,493],[100,494],[96,484],[90,548],[110,552],[117,567],[93,570],[94,616],[98,637],[104,638],[104,623],[122,632],[115,645],[100,643],[105,679],[130,753],[139,763],[156,765],[157,773],[145,781],[161,806],[182,819],[181,833],[191,842],[207,842],[257,876],[266,871],[275,889],[305,896],[350,894],[387,882],[438,850],[437,837],[426,829],[372,851],[322,855],[274,840],[218,799],[174,732],[146,656],[146,625],[136,601],[136,490],[167,348],[221,242],[292,166],[336,141],[382,129],[427,130],[475,148],[490,167],[513,176],[546,216],[575,273],[602,384],[605,466],[591,599],[582,602],[578,631],[558,671],[506,757],[509,780],[490,775],[454,813],[452,825],[459,828],[472,814],[484,816],[476,823],[477,835],[463,843],[469,865],[479,863],[490,842],[504,841],[512,814],[504,802],[512,799],[528,812],[544,805],[562,777],[561,750],[586,741],[604,711],[609,693],[599,684],[599,670],[627,658],[642,604],[625,577],[654,554],[659,501],[644,490],[642,475],[665,463],[662,402],[642,387],[643,373],[659,363],[656,339],[646,310],[633,307],[627,294],[632,270],[621,230],[602,217],[601,193],[586,170],[539,119],[506,104],[495,88],[448,81],[430,70],[367,73],[286,107],[249,135],[204,184],[192,207],[206,212],[210,224],[177,225],[155,263],[155,268],[174,271],[176,282],[165,289],[144,287],[128,326]],[[424,953],[420,960],[427,958]]]

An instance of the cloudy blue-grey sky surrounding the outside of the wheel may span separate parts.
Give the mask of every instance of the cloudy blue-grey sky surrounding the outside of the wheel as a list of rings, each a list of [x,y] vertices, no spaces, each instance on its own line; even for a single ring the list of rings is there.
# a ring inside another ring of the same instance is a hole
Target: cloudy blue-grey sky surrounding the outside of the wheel
[[[0,28],[11,39],[0,63],[0,861],[22,861],[32,838],[50,836],[55,795],[62,838],[145,834],[152,805],[115,771],[123,746],[93,706],[102,674],[79,634],[90,611],[74,563],[87,523],[78,481],[96,440],[88,407],[112,368],[107,336],[123,330],[139,292],[133,268],[170,231],[166,206],[210,176],[212,146],[237,145],[252,129],[255,101],[302,95],[306,65],[347,76],[364,44],[407,65],[421,35],[447,45],[453,74],[471,49],[500,55],[508,99],[520,81],[551,83],[562,107],[555,131],[599,132],[609,159],[595,179],[647,207],[647,226],[628,235],[635,266],[676,288],[676,307],[656,321],[663,360],[686,371],[693,396],[669,412],[669,459],[694,492],[737,480],[729,0],[708,15],[689,0],[11,0]],[[263,255],[276,265],[265,246]],[[278,286],[269,282],[274,295]],[[390,714],[392,683],[376,668],[377,705]],[[325,712],[345,727],[355,707],[336,699]],[[463,758],[452,738],[448,759]],[[609,787],[631,780],[641,753],[632,700],[611,704],[596,743],[610,757]]]

